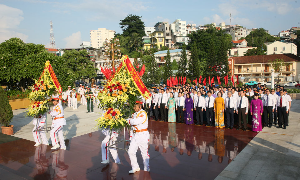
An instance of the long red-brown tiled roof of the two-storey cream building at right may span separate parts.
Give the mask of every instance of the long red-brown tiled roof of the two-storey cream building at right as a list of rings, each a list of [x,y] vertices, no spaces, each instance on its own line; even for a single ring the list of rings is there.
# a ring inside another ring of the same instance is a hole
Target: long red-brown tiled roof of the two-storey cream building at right
[[[258,56],[241,56],[241,57],[231,57],[234,59],[235,64],[252,64],[252,63],[262,63],[262,55]],[[268,63],[269,60],[273,61],[275,59],[283,59],[284,62],[300,61],[300,57],[294,54],[270,54],[264,55],[264,63]]]

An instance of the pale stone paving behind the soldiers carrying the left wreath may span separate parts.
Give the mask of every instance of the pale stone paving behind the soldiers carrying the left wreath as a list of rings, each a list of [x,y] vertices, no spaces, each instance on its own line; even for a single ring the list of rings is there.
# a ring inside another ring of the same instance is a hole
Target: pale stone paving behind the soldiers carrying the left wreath
[[[50,107],[51,109],[53,107]],[[94,104],[95,113],[87,113],[87,107],[80,104],[78,101],[78,109],[73,110],[68,106],[63,106],[64,117],[67,121],[67,125],[63,127],[63,135],[65,139],[73,138],[83,134],[91,133],[97,131],[98,129],[94,128],[96,126],[95,120],[98,119],[102,114],[102,110],[97,108],[97,104]],[[16,109],[13,110],[13,119],[10,123],[14,125],[14,135],[18,138],[27,139],[34,141],[32,136],[33,118],[25,117],[26,109]],[[47,127],[51,126],[52,120],[50,114],[47,114]],[[50,135],[46,133],[49,144],[51,144]]]

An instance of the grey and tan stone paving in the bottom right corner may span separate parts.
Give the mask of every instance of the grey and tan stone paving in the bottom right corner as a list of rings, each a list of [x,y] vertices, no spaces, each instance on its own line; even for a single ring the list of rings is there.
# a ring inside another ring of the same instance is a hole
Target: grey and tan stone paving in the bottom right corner
[[[287,129],[263,128],[215,180],[300,180],[299,108],[292,99]]]

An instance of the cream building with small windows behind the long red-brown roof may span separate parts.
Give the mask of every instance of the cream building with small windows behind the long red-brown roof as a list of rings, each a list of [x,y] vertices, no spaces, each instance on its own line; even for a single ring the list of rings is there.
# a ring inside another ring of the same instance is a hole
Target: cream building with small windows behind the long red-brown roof
[[[295,54],[297,55],[297,46],[292,42],[266,42],[267,55],[269,54]]]

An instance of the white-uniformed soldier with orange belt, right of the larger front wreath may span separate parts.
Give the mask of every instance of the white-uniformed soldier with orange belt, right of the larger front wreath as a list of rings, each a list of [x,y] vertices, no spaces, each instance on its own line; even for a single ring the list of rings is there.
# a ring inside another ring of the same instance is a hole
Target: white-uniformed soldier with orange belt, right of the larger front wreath
[[[148,142],[150,134],[147,130],[148,128],[148,116],[146,111],[142,110],[143,102],[136,102],[134,106],[134,111],[131,118],[126,119],[126,121],[131,126],[130,131],[130,146],[128,149],[128,155],[131,161],[132,170],[129,173],[135,173],[140,170],[137,162],[136,153],[138,148],[141,150],[141,154],[144,162],[144,171],[150,171],[149,167],[149,153],[148,153]]]

